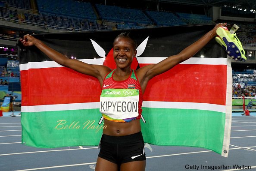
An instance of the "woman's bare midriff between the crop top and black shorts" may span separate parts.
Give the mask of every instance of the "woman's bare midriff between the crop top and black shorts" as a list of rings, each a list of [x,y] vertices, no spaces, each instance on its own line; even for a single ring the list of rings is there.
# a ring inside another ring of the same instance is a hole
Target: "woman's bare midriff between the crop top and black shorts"
[[[113,122],[104,119],[103,134],[111,136],[125,136],[135,134],[141,131],[140,120],[131,120],[130,122]]]

